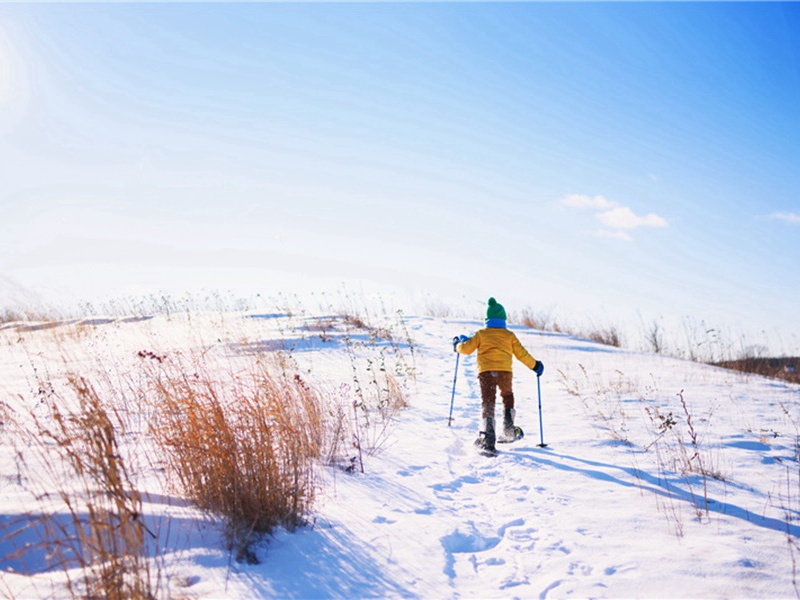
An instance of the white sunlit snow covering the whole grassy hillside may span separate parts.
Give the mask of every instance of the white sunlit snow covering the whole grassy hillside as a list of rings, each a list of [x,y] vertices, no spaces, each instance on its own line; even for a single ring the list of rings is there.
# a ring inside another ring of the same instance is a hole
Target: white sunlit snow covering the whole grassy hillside
[[[219,519],[170,491],[147,460],[134,461],[144,514],[159,538],[151,560],[165,579],[163,597],[797,594],[800,386],[512,326],[545,365],[544,431],[535,375],[515,363],[517,423],[526,436],[487,458],[472,445],[480,421],[474,355],[461,357],[448,426],[450,340],[481,323],[383,317],[397,337],[407,328],[413,345],[390,348],[345,332],[333,317],[282,310],[8,324],[0,329],[0,398],[15,409],[35,406],[34,369],[57,379],[69,365],[115,380],[135,370],[142,350],[205,348],[235,362],[280,347],[329,389],[352,382],[353,347],[382,348],[392,360],[403,353],[409,406],[380,451],[363,457],[364,473],[320,466],[308,525],[260,542],[258,564],[236,562]],[[124,443],[130,456],[150,451],[143,435]],[[35,461],[32,446],[20,449],[1,428],[0,594],[68,596],[64,572],[36,548],[36,528],[12,535],[58,506],[35,494],[18,450]],[[26,541],[34,546],[16,555]]]

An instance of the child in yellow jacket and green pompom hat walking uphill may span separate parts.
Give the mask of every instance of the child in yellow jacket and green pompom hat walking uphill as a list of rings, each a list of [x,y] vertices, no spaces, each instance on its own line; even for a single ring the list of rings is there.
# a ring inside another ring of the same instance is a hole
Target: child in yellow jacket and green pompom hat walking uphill
[[[512,389],[512,357],[516,357],[522,364],[532,369],[537,376],[541,376],[544,372],[544,365],[530,355],[513,331],[506,329],[506,310],[494,298],[489,298],[484,324],[485,327],[472,337],[461,335],[453,338],[453,349],[460,354],[472,354],[475,350],[478,351],[482,426],[475,443],[484,450],[494,452],[497,441],[495,398],[498,388],[503,399],[503,439],[511,441],[515,436],[516,410]]]

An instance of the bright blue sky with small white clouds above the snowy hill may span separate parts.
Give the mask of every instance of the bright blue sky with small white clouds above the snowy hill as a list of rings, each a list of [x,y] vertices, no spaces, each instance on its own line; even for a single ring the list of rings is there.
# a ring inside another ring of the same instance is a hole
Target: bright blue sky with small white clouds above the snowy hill
[[[797,346],[799,32],[796,3],[0,5],[0,275]]]

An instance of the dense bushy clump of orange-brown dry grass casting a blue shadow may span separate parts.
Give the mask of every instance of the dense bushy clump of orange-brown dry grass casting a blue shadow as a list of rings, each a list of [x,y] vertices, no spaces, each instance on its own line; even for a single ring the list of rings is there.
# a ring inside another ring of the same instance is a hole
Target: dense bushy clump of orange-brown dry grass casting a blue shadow
[[[202,359],[146,368],[168,470],[186,497],[225,517],[239,558],[253,559],[258,534],[304,522],[327,431],[314,388],[264,359],[240,372]]]

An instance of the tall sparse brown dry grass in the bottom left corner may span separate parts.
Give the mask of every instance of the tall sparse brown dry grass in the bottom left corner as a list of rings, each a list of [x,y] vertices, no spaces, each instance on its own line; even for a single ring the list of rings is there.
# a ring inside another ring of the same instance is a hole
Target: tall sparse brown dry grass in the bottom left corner
[[[38,459],[29,465],[22,458],[25,453],[18,453],[26,478],[44,488],[40,497],[55,490],[61,504],[24,519],[41,532],[40,545],[51,567],[65,573],[73,596],[154,597],[157,578],[148,556],[155,536],[144,523],[141,494],[120,452],[120,420],[92,385],[76,375],[67,377],[64,392],[55,392],[49,383],[40,392],[47,407],[44,416],[34,409],[6,418]],[[82,578],[74,578],[75,568]]]

